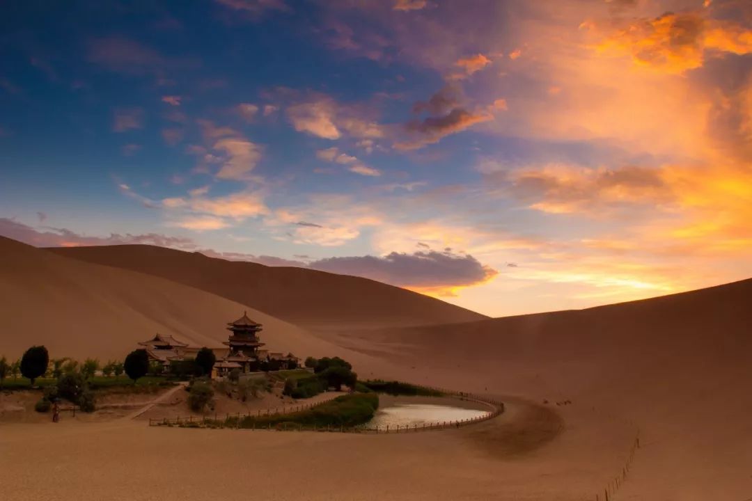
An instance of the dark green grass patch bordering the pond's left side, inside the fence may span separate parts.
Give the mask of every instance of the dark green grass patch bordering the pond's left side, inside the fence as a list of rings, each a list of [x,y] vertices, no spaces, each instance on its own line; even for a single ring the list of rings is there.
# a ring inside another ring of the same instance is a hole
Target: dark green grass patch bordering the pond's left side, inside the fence
[[[221,424],[228,427],[355,427],[374,417],[378,409],[377,394],[347,394],[319,406],[300,412],[280,415],[245,416],[228,418]]]

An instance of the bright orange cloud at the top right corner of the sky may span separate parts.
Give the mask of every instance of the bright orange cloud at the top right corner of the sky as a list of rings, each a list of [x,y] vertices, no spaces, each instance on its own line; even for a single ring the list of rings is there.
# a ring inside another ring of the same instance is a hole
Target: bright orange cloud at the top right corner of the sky
[[[660,71],[682,73],[701,67],[708,54],[752,52],[752,29],[698,12],[669,12],[629,23],[598,48],[629,53],[636,63]]]

